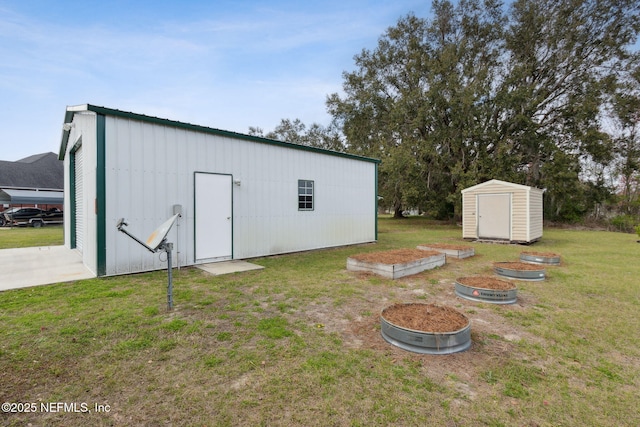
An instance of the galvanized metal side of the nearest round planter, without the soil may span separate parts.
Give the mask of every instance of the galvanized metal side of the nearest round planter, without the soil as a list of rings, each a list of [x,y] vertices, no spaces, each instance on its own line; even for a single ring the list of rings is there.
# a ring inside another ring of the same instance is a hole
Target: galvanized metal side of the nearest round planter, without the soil
[[[422,354],[451,354],[471,347],[471,322],[453,332],[416,331],[389,322],[384,318],[384,310],[380,322],[382,338],[403,350]]]

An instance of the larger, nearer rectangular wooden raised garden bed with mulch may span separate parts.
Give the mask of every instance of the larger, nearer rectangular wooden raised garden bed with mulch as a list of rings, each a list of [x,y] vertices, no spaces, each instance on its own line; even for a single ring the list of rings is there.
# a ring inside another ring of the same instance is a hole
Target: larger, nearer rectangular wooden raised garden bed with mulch
[[[444,265],[445,255],[435,251],[396,249],[356,254],[347,258],[347,270],[371,272],[398,279]]]

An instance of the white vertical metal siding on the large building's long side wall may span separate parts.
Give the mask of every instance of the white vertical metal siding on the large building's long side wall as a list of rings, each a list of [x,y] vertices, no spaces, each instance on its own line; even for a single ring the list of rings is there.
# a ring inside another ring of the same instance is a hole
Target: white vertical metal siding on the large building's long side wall
[[[375,240],[372,162],[110,116],[106,139],[108,275],[166,266],[117,233],[116,223],[124,217],[130,232],[146,237],[174,204],[183,207],[168,237],[180,252],[174,259],[196,262],[196,172],[240,182],[232,186],[234,258]],[[299,179],[314,181],[313,211],[298,211]]]

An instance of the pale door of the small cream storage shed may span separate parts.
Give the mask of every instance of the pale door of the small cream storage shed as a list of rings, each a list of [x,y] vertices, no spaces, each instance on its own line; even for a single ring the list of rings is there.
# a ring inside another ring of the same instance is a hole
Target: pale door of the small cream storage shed
[[[478,238],[511,238],[511,194],[478,194]]]

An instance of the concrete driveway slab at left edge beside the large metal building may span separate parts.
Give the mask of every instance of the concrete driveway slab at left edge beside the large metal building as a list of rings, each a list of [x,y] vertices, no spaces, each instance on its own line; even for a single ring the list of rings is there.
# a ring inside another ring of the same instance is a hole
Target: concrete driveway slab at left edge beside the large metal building
[[[40,246],[0,250],[0,291],[94,277],[75,249]]]

